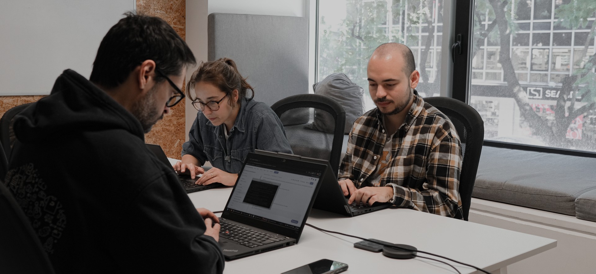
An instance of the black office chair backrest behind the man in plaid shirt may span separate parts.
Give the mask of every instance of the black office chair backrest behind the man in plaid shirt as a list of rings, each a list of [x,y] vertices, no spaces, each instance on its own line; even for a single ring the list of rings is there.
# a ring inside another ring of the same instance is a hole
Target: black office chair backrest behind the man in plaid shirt
[[[460,197],[464,220],[468,220],[478,161],[484,142],[484,122],[473,107],[449,97],[429,97],[424,101],[439,109],[454,124],[461,141]]]

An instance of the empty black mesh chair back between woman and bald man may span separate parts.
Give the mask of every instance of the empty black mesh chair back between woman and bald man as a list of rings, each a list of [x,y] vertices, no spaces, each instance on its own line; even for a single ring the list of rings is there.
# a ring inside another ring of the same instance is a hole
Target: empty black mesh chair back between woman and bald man
[[[346,127],[342,105],[327,96],[299,94],[271,108],[280,117],[294,154],[327,160],[337,175]]]

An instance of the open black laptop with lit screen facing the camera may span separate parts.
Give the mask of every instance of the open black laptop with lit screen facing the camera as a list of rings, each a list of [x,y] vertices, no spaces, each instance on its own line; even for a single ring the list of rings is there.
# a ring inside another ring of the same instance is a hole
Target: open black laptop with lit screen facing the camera
[[[327,165],[250,152],[219,218],[219,245],[234,260],[298,243]]]

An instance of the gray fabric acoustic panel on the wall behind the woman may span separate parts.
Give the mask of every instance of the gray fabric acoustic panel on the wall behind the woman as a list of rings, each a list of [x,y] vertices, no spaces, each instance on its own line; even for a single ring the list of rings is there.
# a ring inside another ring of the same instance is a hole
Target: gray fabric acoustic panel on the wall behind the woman
[[[234,60],[254,87],[256,101],[271,106],[287,96],[308,93],[306,18],[212,13],[207,26],[209,61]]]

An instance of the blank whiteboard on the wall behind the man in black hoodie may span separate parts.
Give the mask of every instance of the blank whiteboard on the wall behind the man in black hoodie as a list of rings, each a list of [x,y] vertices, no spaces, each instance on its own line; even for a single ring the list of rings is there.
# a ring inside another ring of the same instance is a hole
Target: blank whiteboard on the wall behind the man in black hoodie
[[[0,95],[49,94],[66,68],[89,79],[101,39],[135,7],[135,0],[3,0]]]

